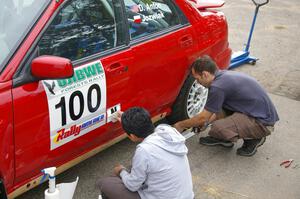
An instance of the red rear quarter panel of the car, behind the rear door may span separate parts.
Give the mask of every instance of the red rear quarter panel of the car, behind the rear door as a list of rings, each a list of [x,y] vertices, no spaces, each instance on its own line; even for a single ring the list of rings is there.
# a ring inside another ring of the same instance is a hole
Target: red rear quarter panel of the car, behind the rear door
[[[228,25],[224,13],[217,10],[198,10],[189,0],[177,0],[197,35],[197,57],[211,56],[220,69],[230,63],[231,49],[228,43]]]

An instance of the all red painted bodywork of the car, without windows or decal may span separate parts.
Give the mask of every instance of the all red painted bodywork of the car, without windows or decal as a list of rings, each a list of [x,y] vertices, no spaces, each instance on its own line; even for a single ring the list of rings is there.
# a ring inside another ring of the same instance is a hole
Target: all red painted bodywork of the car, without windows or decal
[[[41,169],[63,165],[123,134],[119,124],[107,123],[50,150],[49,111],[42,82],[12,86],[26,53],[61,3],[53,0],[49,4],[0,74],[0,178],[8,194],[40,176]],[[98,59],[106,75],[106,107],[119,103],[124,110],[143,106],[152,116],[170,112],[189,66],[198,56],[208,54],[221,69],[228,67],[231,49],[224,15],[199,11],[184,0],[176,3],[190,25]]]

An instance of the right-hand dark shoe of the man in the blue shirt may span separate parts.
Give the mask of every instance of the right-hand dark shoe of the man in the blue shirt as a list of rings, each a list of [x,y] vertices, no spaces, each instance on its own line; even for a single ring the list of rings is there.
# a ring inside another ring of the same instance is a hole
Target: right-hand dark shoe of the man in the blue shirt
[[[238,148],[236,154],[241,156],[253,156],[257,148],[264,144],[266,137],[260,139],[244,140],[243,146]]]

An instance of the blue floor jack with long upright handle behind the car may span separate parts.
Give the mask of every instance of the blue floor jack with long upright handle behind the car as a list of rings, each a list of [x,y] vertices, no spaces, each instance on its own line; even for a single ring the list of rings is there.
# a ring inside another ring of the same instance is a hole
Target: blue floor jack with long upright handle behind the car
[[[254,30],[254,26],[255,26],[256,17],[257,17],[259,7],[269,3],[269,0],[252,0],[252,2],[254,3],[254,5],[256,7],[255,7],[254,17],[253,17],[253,21],[252,21],[252,25],[251,25],[251,29],[250,29],[250,33],[249,33],[249,37],[248,37],[246,47],[243,51],[234,52],[231,55],[231,61],[230,61],[230,65],[229,65],[228,69],[233,69],[233,68],[239,67],[243,64],[252,64],[252,65],[254,65],[256,63],[256,61],[258,60],[258,58],[250,56],[250,51],[249,51],[250,42],[251,42],[251,38],[252,38],[252,34],[253,34],[253,30]]]

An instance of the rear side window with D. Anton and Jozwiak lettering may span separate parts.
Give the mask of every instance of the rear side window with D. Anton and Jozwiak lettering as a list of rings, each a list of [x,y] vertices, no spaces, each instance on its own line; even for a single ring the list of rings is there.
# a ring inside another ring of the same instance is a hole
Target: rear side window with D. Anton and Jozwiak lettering
[[[180,24],[172,2],[168,0],[124,0],[131,39]]]

